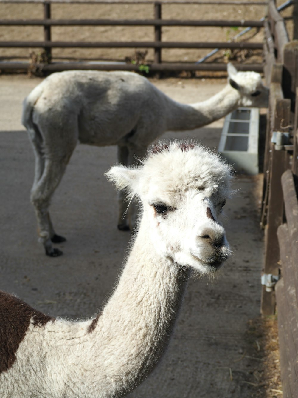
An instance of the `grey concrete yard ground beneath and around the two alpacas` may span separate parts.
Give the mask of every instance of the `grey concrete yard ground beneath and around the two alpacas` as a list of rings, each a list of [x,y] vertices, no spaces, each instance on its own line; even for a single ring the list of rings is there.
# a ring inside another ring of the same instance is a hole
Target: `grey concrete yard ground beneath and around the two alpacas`
[[[40,79],[0,76],[0,289],[51,316],[86,318],[102,308],[128,250],[120,232],[114,187],[103,173],[116,148],[79,144],[50,208],[64,255],[48,258],[37,243],[29,201],[34,158],[20,123],[21,104]],[[154,80],[181,102],[208,98],[225,82]],[[195,137],[217,147],[223,119],[165,137]],[[258,353],[248,320],[259,315],[263,234],[259,229],[260,176],[238,176],[228,200],[227,237],[234,254],[214,284],[190,279],[168,349],[152,375],[130,397],[247,398],[254,396]],[[57,246],[58,247],[58,246]],[[1,320],[0,320],[1,322]]]

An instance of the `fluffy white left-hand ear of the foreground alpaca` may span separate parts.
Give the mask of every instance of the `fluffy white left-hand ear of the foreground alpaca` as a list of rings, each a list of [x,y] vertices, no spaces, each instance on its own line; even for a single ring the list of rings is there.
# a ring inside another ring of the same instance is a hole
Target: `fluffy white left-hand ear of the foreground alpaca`
[[[113,166],[105,175],[112,181],[117,189],[129,189],[134,191],[134,187],[139,179],[140,170],[125,166]]]

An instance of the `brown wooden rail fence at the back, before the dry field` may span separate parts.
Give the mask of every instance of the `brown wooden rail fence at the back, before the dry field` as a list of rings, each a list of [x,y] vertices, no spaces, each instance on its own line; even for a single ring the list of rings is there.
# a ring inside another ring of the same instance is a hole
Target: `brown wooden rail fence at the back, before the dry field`
[[[151,71],[164,71],[164,70],[226,70],[224,63],[170,63],[163,62],[162,49],[262,49],[263,43],[251,43],[245,41],[227,41],[227,42],[183,42],[183,41],[163,41],[162,40],[162,27],[163,26],[192,26],[192,27],[263,27],[263,21],[244,21],[244,20],[166,20],[162,18],[163,4],[210,4],[215,6],[225,6],[227,4],[237,5],[265,5],[267,1],[263,2],[204,2],[204,1],[142,1],[142,0],[89,0],[84,4],[152,4],[153,5],[153,19],[152,20],[112,20],[112,19],[52,19],[51,18],[51,5],[54,3],[81,3],[81,1],[68,1],[68,0],[0,0],[0,3],[42,3],[44,8],[43,19],[27,19],[27,20],[8,20],[0,19],[0,26],[43,26],[44,40],[43,41],[0,41],[0,48],[43,48],[46,53],[47,62],[42,65],[43,70],[57,71],[66,69],[97,69],[97,70],[138,70],[137,64],[124,64],[109,63],[101,64],[100,62],[54,62],[52,58],[53,48],[141,48],[154,49],[154,62],[149,65]],[[51,27],[52,26],[152,26],[154,27],[154,40],[153,41],[52,41]],[[40,65],[39,65],[40,66]],[[261,64],[240,64],[236,65],[239,70],[256,70],[262,71]],[[27,69],[28,62],[1,62],[1,69]]]

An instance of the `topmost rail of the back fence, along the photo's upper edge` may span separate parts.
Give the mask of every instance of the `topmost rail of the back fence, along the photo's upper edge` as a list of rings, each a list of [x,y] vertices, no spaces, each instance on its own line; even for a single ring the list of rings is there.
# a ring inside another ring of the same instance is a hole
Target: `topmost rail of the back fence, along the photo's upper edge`
[[[268,2],[242,2],[242,1],[183,1],[183,0],[163,0],[156,2],[154,0],[0,0],[0,4],[9,3],[65,3],[65,4],[215,4],[219,6],[235,5],[235,6],[267,6]]]

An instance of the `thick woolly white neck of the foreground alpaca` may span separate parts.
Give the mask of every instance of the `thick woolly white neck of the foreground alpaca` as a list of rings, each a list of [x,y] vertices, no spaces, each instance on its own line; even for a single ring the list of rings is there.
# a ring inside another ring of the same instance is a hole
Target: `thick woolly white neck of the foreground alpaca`
[[[101,370],[113,380],[114,390],[106,396],[128,391],[156,365],[186,285],[188,271],[157,254],[147,231],[141,224],[118,287],[94,330],[99,356],[106,359]]]

